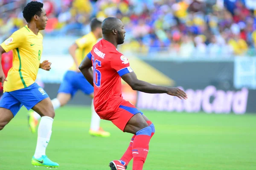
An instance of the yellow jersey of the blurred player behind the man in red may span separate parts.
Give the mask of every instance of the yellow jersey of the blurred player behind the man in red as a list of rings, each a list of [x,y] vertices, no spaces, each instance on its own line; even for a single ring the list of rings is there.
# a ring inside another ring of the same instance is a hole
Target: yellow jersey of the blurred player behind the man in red
[[[76,44],[78,48],[76,49],[76,59],[78,62],[78,66],[81,64],[84,57],[90,53],[90,51],[93,49],[93,45],[97,43],[97,39],[93,32],[90,32],[89,34],[84,35],[83,37],[77,39]],[[72,65],[70,68],[71,71],[76,71],[76,63]]]

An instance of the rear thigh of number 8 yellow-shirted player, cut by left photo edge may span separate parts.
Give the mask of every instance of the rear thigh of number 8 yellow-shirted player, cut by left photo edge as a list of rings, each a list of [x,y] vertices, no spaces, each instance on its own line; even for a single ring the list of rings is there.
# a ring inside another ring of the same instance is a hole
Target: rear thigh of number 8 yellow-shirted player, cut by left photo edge
[[[0,100],[0,130],[12,120],[21,107],[22,104],[9,92],[3,94]]]

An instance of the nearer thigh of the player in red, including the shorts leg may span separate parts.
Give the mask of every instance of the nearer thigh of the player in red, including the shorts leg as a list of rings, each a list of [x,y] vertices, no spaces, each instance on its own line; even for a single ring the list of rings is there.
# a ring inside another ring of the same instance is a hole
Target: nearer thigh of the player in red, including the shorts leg
[[[130,102],[123,100],[118,110],[110,119],[120,130],[135,134],[137,131],[148,126],[142,114]]]

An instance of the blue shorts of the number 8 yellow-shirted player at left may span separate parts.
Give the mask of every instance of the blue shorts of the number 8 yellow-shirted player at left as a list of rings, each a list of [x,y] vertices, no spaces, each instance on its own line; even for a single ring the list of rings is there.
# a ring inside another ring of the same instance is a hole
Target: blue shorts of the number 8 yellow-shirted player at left
[[[47,97],[44,89],[33,83],[26,88],[5,92],[0,100],[0,108],[9,109],[15,116],[23,105],[29,110]]]

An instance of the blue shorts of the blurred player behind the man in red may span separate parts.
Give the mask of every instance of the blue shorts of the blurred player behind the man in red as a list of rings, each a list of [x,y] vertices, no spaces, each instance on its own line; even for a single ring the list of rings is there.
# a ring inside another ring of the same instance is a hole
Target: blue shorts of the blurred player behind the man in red
[[[71,94],[73,97],[78,90],[87,95],[93,94],[94,91],[93,86],[84,78],[81,72],[67,71],[58,93]]]

